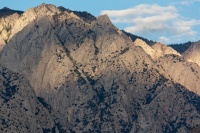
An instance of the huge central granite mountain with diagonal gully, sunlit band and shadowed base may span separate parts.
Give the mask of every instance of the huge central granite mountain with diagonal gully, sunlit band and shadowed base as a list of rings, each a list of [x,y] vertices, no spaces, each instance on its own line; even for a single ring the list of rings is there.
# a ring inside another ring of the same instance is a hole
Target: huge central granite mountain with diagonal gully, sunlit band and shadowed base
[[[199,125],[200,97],[164,77],[106,15],[85,21],[42,4],[18,21],[29,14],[0,63],[23,74],[71,132],[186,133]]]

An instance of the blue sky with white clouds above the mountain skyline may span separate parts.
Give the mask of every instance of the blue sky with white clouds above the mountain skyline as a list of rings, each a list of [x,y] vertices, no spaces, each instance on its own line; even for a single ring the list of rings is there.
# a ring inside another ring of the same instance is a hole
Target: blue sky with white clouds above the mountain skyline
[[[200,0],[0,0],[0,8],[25,11],[43,2],[108,14],[119,29],[165,44],[200,40]]]

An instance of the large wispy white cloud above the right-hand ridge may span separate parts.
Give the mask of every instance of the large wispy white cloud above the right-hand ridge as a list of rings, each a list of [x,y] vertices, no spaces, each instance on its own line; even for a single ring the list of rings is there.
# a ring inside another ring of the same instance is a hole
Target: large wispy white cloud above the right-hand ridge
[[[124,30],[128,32],[137,35],[154,34],[163,43],[169,42],[171,38],[175,40],[195,36],[197,32],[193,27],[200,25],[200,20],[184,18],[172,5],[141,4],[125,10],[104,10],[101,14],[107,14],[115,24],[126,24]]]

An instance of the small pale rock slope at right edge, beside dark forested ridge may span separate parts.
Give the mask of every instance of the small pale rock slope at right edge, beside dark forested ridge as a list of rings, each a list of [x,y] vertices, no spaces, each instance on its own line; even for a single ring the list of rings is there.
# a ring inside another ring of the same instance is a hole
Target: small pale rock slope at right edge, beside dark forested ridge
[[[190,62],[195,62],[200,66],[200,41],[193,43],[182,55]]]

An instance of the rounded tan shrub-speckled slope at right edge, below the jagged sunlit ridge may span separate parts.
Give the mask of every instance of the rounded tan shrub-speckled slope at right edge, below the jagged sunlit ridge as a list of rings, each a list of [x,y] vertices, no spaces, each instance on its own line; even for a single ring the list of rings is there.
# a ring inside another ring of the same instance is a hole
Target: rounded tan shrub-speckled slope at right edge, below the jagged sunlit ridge
[[[169,79],[200,95],[200,67],[177,55],[165,55],[157,61],[159,71]]]

